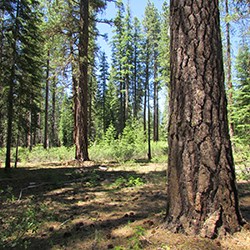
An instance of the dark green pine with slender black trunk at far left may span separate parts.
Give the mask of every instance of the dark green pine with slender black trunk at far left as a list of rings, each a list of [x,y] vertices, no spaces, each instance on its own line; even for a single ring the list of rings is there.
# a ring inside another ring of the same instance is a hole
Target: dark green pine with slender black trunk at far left
[[[37,1],[13,1],[6,8],[4,16],[10,30],[6,33],[6,48],[10,48],[11,51],[8,54],[10,64],[6,65],[6,72],[8,72],[6,74],[8,76],[6,169],[10,168],[13,122],[16,122],[17,129],[24,128],[24,131],[29,131],[32,123],[27,126],[29,122],[25,121],[27,117],[32,117],[32,113],[34,117],[39,109],[41,14],[38,6]],[[6,53],[7,51],[6,49]],[[16,110],[18,110],[18,115],[15,114]]]

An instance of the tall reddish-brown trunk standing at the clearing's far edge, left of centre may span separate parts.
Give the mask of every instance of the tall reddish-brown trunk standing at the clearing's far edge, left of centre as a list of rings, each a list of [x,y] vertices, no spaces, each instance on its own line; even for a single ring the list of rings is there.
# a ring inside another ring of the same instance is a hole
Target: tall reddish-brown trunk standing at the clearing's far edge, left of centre
[[[89,160],[88,155],[88,44],[89,0],[80,1],[79,83],[76,108],[76,159]]]

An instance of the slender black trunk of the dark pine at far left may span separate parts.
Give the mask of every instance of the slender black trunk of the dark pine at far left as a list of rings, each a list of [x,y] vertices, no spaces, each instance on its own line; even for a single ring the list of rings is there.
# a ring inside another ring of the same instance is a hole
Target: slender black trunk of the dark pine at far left
[[[13,42],[12,42],[12,65],[11,65],[11,77],[9,81],[9,93],[8,93],[8,108],[7,108],[7,140],[6,140],[6,157],[5,157],[5,170],[10,169],[11,166],[11,142],[12,142],[12,122],[14,116],[14,84],[16,77],[16,60],[17,60],[17,35],[18,35],[18,17],[19,17],[19,0],[16,3],[16,16],[15,16],[15,27],[13,31]]]

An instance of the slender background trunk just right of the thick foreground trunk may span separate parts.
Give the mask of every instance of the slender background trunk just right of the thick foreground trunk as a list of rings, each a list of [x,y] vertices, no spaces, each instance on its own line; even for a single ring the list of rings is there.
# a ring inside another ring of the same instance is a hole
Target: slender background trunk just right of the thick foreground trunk
[[[228,0],[225,0],[226,5],[226,16],[229,17],[229,7],[228,7]],[[230,22],[229,20],[226,21],[226,49],[227,49],[227,88],[228,88],[228,104],[229,104],[229,134],[230,137],[233,138],[234,136],[234,124],[232,122],[232,107],[233,107],[233,83],[232,83],[232,63],[231,63],[231,42],[230,42]]]

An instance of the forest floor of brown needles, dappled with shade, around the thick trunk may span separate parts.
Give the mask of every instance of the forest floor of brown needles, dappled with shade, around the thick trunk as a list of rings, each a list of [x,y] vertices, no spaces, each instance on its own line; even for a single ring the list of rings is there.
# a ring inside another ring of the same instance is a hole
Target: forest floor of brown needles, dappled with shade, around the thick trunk
[[[225,239],[164,227],[166,164],[72,162],[0,169],[0,249],[250,249],[247,228]],[[250,222],[250,182],[239,183]]]

